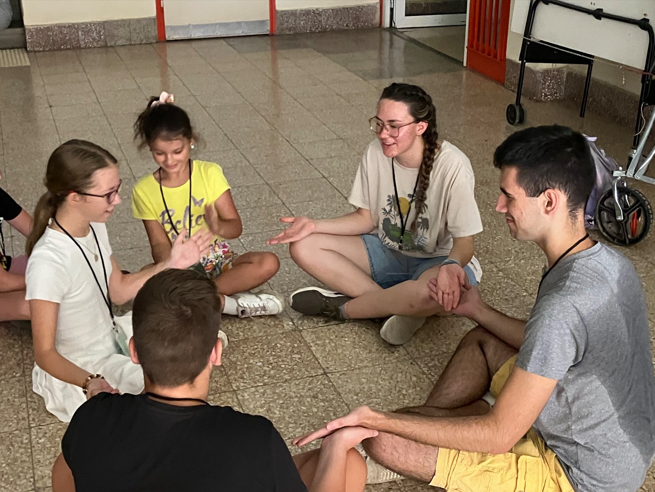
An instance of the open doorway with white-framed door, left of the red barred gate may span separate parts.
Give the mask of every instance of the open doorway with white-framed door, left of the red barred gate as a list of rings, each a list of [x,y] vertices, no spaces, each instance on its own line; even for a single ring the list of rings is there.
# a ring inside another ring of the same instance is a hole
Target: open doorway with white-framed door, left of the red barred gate
[[[463,63],[466,4],[466,0],[396,0],[392,27]]]

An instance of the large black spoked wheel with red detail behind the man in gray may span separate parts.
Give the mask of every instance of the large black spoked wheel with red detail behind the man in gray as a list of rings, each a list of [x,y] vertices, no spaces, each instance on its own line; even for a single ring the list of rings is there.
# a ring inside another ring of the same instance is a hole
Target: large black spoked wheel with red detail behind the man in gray
[[[633,246],[648,235],[653,211],[641,191],[618,186],[623,220],[616,219],[614,193],[606,191],[596,205],[596,224],[608,240],[620,246]]]

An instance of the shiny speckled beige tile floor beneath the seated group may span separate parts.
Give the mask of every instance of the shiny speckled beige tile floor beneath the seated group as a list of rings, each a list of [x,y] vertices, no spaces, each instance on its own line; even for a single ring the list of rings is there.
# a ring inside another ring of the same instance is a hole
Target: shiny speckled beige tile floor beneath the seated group
[[[147,238],[130,218],[130,191],[154,169],[132,143],[131,127],[147,96],[174,92],[191,113],[204,146],[197,157],[219,162],[233,186],[244,235],[238,250],[266,248],[278,218],[326,218],[350,210],[346,197],[373,134],[381,88],[422,85],[437,106],[440,134],[470,157],[485,231],[477,255],[482,291],[502,311],[526,316],[543,258],[519,244],[494,212],[493,150],[514,128],[504,111],[514,95],[428,48],[378,29],[285,37],[243,37],[30,54],[31,66],[0,69],[1,185],[33,210],[45,162],[60,142],[84,138],[121,161],[123,204],[108,228],[127,269],[149,261]],[[563,123],[600,137],[624,161],[629,128],[555,103],[526,102],[529,124]],[[655,187],[640,186],[655,203]],[[626,254],[643,275],[655,312],[654,237]],[[20,254],[24,240],[11,237]],[[271,248],[282,267],[270,287],[288,293],[310,284],[286,248]],[[335,324],[287,312],[275,318],[225,318],[232,343],[215,370],[211,400],[266,415],[287,440],[359,404],[383,409],[419,404],[440,374],[466,319],[431,319],[404,347],[379,339],[373,322]],[[0,490],[47,490],[65,425],[31,391],[31,335],[0,325]],[[229,445],[229,444],[227,444]],[[368,491],[427,491],[405,480]],[[644,491],[655,491],[653,470]]]

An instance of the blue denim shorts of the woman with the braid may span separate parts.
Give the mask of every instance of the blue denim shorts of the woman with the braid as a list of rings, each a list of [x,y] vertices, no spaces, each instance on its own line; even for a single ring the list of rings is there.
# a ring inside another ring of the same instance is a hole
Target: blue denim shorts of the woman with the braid
[[[387,248],[375,234],[362,234],[360,237],[364,241],[366,254],[369,257],[371,276],[383,289],[393,287],[405,280],[417,280],[428,268],[441,265],[447,259],[447,256],[432,258],[408,256]],[[476,285],[476,276],[468,265],[464,267],[464,272],[468,276],[468,282]]]

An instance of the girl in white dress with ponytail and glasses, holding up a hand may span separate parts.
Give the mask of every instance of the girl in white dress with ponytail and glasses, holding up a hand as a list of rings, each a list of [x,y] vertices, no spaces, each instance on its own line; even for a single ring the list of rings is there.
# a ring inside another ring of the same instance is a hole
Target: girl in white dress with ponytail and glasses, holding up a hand
[[[123,348],[131,319],[117,324],[112,301],[130,301],[145,280],[165,268],[197,263],[210,233],[198,231],[188,240],[181,234],[168,261],[124,274],[105,228],[121,203],[115,157],[94,143],[69,140],[50,156],[45,185],[26,248],[33,390],[51,413],[68,422],[86,390],[143,390],[141,368]]]

